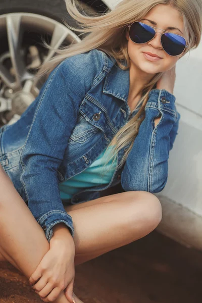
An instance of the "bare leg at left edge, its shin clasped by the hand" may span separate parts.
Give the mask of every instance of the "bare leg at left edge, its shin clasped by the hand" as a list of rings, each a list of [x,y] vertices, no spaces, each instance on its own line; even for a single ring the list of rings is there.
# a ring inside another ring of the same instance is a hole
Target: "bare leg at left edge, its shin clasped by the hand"
[[[6,190],[5,190],[6,189]],[[43,229],[0,165],[1,254],[29,279],[49,250]],[[64,290],[55,303],[69,303]]]

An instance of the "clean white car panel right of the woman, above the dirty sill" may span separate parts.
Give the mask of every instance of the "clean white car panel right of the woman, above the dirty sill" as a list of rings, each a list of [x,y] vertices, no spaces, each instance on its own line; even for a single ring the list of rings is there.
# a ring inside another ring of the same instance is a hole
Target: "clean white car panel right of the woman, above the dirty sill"
[[[161,194],[202,216],[202,43],[176,65],[174,95],[181,114]]]

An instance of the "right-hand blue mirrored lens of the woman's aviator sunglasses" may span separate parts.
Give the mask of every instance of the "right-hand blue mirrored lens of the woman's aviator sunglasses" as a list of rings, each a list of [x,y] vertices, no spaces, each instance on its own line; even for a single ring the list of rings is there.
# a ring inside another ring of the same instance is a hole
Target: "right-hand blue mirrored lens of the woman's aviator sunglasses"
[[[186,40],[183,37],[172,33],[164,33],[161,36],[161,42],[166,53],[171,56],[182,54],[186,46]]]

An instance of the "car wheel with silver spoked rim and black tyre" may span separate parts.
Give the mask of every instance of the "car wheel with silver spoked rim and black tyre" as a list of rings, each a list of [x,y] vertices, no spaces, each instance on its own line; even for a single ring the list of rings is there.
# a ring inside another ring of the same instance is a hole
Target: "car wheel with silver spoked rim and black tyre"
[[[0,0],[0,126],[15,123],[39,93],[43,83],[33,80],[36,68],[55,55],[42,39],[59,48],[85,37],[79,38],[63,21],[78,28],[64,0]]]

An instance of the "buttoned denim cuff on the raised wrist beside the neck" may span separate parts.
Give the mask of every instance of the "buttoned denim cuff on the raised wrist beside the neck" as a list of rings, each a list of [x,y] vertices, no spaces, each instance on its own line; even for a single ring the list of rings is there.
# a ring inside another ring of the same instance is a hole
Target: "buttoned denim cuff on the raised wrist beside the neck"
[[[176,97],[166,89],[151,89],[145,108],[155,108],[161,113],[168,112],[174,117],[177,117],[175,100]]]

